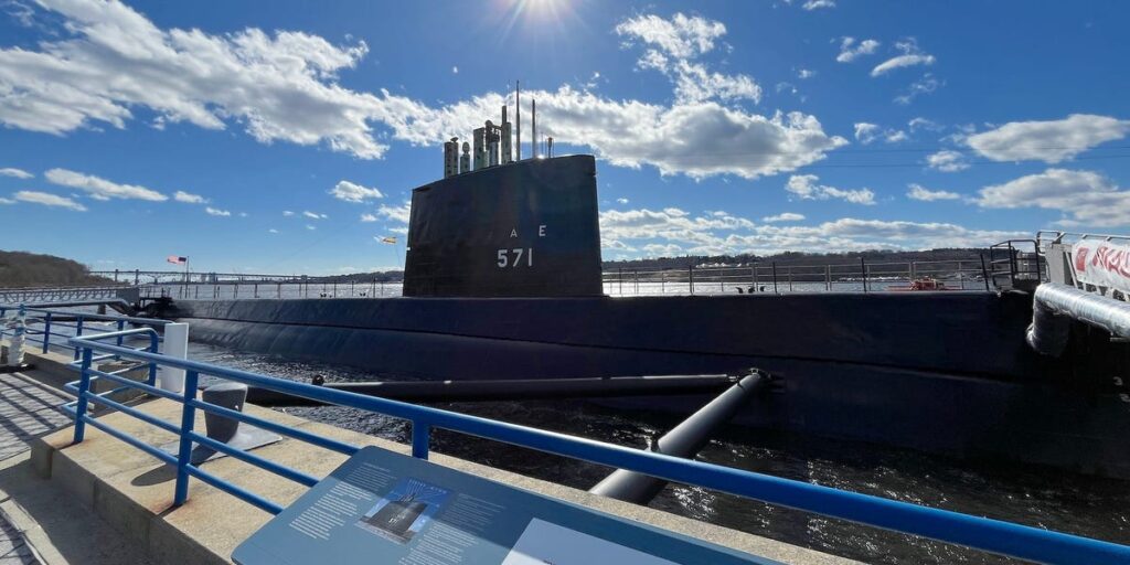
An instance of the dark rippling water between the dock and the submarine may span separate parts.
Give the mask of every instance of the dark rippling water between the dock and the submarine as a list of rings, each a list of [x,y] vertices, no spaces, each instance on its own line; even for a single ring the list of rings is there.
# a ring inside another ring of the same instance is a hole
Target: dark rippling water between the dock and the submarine
[[[295,363],[193,344],[200,360],[297,381],[381,379],[346,367]],[[533,427],[642,447],[678,423],[669,415],[579,401],[458,402],[434,405]],[[408,427],[358,410],[289,408],[305,418],[407,442]],[[609,469],[452,433],[436,432],[433,449],[541,479],[588,489]],[[750,429],[728,429],[698,457],[808,483],[925,504],[1109,541],[1130,544],[1130,483],[1045,469],[972,466],[918,452],[822,441]],[[668,486],[652,507],[706,522],[872,563],[1012,563],[968,549],[721,495]]]

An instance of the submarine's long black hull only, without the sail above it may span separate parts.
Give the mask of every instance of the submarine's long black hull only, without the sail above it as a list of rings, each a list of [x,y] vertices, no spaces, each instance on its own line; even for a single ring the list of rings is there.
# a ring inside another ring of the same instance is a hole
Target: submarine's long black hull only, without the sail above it
[[[433,380],[780,377],[734,423],[1130,477],[1130,405],[1032,353],[1031,297],[875,293],[179,301],[192,339]],[[624,406],[689,412],[707,397]]]

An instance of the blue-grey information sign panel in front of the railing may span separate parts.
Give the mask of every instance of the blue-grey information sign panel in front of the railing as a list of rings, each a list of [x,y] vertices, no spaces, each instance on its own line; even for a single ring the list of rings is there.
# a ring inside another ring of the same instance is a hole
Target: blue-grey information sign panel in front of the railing
[[[240,565],[773,564],[380,447],[365,447],[232,555]]]

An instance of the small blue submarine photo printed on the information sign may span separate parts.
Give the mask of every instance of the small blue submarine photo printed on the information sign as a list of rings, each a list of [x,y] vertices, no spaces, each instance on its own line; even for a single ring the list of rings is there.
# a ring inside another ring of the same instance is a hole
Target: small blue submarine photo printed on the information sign
[[[406,477],[368,508],[357,527],[398,544],[407,544],[438,512],[451,493]]]

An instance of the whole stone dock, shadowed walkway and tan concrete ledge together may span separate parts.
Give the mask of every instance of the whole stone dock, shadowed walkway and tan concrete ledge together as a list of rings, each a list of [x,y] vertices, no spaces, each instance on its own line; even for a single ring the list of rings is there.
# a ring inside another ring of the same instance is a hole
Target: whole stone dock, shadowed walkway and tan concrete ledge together
[[[29,355],[36,368],[0,374],[0,565],[227,564],[235,547],[271,514],[193,479],[189,499],[173,506],[174,469],[148,454],[87,427],[72,444],[70,418],[58,407],[73,397],[62,383],[76,379],[69,357]],[[142,411],[179,424],[181,406],[158,399],[132,402]],[[246,411],[355,445],[408,453],[409,446],[247,406]],[[123,414],[99,416],[114,428],[150,445],[175,436]],[[203,426],[198,411],[197,428]],[[255,450],[258,455],[323,477],[346,457],[285,438]],[[597,508],[610,514],[707,540],[784,563],[852,563],[827,554],[603,498],[570,487],[485,467],[433,452],[434,463],[505,485]],[[233,458],[205,468],[234,484],[287,505],[306,487]]]

